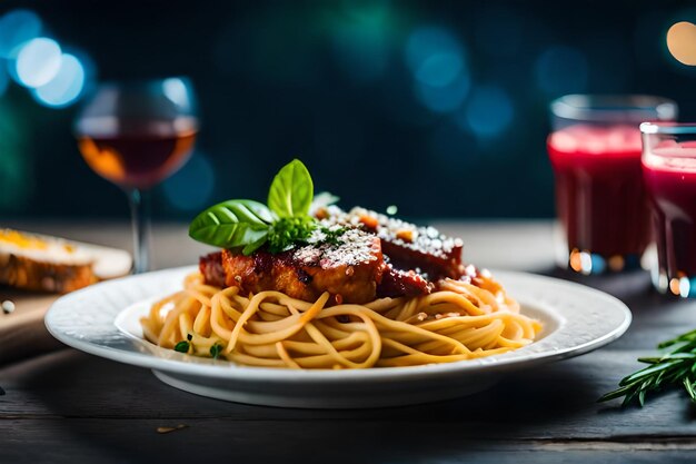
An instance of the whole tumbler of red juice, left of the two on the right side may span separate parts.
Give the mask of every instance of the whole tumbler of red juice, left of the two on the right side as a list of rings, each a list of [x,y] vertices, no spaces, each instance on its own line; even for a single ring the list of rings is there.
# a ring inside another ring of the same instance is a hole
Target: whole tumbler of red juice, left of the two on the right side
[[[558,265],[581,274],[639,267],[650,241],[639,125],[674,120],[676,103],[650,96],[569,95],[550,110]]]

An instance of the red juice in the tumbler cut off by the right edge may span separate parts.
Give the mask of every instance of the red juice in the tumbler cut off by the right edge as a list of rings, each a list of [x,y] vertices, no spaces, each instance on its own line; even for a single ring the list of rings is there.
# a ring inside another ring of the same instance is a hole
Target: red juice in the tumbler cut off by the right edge
[[[653,207],[653,230],[659,270],[668,279],[694,277],[696,142],[663,142],[650,155],[645,156],[643,167]]]

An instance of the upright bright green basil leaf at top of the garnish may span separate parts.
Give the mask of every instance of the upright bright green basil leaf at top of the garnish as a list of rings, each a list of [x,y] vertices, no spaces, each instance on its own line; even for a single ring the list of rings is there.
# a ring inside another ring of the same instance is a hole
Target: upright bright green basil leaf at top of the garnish
[[[274,178],[268,192],[268,207],[280,217],[306,216],[315,187],[307,167],[294,159]]]

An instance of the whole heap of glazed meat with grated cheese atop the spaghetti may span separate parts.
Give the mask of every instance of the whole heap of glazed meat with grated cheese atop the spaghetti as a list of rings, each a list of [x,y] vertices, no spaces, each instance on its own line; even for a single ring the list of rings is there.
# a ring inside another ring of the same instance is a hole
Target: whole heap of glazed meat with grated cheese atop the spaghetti
[[[312,245],[279,254],[261,249],[250,256],[230,250],[203,256],[206,283],[242,293],[278,290],[307,302],[329,292],[337,303],[427,295],[446,277],[476,283],[476,273],[461,263],[459,239],[362,208],[324,213],[322,228],[345,228],[338,237],[327,240],[318,229]]]

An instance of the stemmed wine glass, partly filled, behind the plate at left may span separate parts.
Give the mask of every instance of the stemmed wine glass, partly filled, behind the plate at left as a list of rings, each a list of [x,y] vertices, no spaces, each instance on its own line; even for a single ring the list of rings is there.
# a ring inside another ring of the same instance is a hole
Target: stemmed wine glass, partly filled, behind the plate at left
[[[187,78],[99,86],[74,132],[90,168],[128,195],[133,273],[149,269],[149,188],[188,160],[198,134],[196,98]]]

